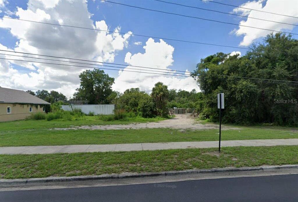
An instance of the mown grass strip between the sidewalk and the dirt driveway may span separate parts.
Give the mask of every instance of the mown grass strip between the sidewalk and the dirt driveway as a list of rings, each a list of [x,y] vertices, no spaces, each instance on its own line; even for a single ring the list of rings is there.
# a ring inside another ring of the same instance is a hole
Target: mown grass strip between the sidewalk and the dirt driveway
[[[51,121],[48,121],[51,122]],[[11,122],[13,123],[13,122]],[[30,123],[30,122],[28,122]],[[29,127],[29,126],[28,126]],[[34,128],[34,126],[31,126]],[[218,129],[179,130],[167,128],[123,130],[49,130],[9,127],[0,129],[0,146],[71,144],[124,144],[149,142],[217,141]],[[38,127],[39,128],[39,127]],[[222,140],[298,138],[298,130],[285,127],[239,127],[222,131]]]

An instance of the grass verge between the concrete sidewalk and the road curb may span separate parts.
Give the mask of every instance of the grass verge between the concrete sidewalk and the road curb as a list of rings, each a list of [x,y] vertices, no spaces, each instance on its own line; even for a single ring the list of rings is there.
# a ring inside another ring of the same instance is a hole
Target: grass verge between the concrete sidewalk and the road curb
[[[217,148],[0,155],[0,178],[38,178],[298,164],[297,146],[224,147],[219,157],[212,155],[212,152],[216,151]]]

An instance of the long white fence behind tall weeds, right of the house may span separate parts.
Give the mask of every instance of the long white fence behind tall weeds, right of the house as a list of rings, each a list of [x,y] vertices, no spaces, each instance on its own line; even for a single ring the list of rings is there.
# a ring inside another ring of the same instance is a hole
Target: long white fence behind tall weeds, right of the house
[[[94,115],[98,114],[114,114],[114,104],[76,104],[76,105],[61,105],[65,111],[72,111],[72,109],[81,109],[82,112],[88,114],[93,112]]]

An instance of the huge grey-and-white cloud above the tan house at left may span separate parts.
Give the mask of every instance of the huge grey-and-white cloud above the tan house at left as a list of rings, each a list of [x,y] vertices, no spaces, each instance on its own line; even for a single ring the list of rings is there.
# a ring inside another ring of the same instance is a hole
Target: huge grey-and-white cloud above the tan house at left
[[[15,15],[27,20],[109,29],[105,21],[97,21],[94,26],[90,19],[92,14],[88,12],[86,1],[30,0],[27,5],[27,10],[17,7]],[[7,18],[0,19],[0,27],[9,29],[10,33],[18,39],[15,51],[110,62],[114,61],[118,51],[128,46],[131,36]],[[114,30],[118,32],[120,27],[116,27]],[[5,49],[6,47],[0,44],[0,48]],[[7,56],[7,58],[12,57]],[[25,67],[27,71],[14,69],[12,64]],[[2,87],[22,90],[61,90],[67,97],[71,96],[75,88],[78,87],[80,72],[88,69],[7,60],[0,60],[0,65],[0,86]]]

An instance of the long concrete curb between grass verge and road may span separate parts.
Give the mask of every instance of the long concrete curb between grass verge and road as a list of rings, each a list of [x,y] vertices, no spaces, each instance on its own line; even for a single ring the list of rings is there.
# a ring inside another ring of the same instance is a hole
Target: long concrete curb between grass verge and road
[[[103,179],[124,179],[124,178],[141,178],[166,175],[183,175],[192,173],[212,173],[212,172],[235,172],[235,171],[254,171],[267,169],[282,169],[282,168],[298,168],[298,164],[280,165],[280,166],[255,166],[255,167],[240,167],[240,168],[212,168],[212,169],[192,169],[182,171],[166,171],[166,172],[144,172],[144,173],[124,173],[124,174],[103,174],[103,175],[80,175],[72,177],[46,177],[46,178],[24,178],[24,179],[1,179],[0,185],[13,184],[29,184],[29,183],[47,183],[47,182],[74,182],[87,180],[103,180]]]

